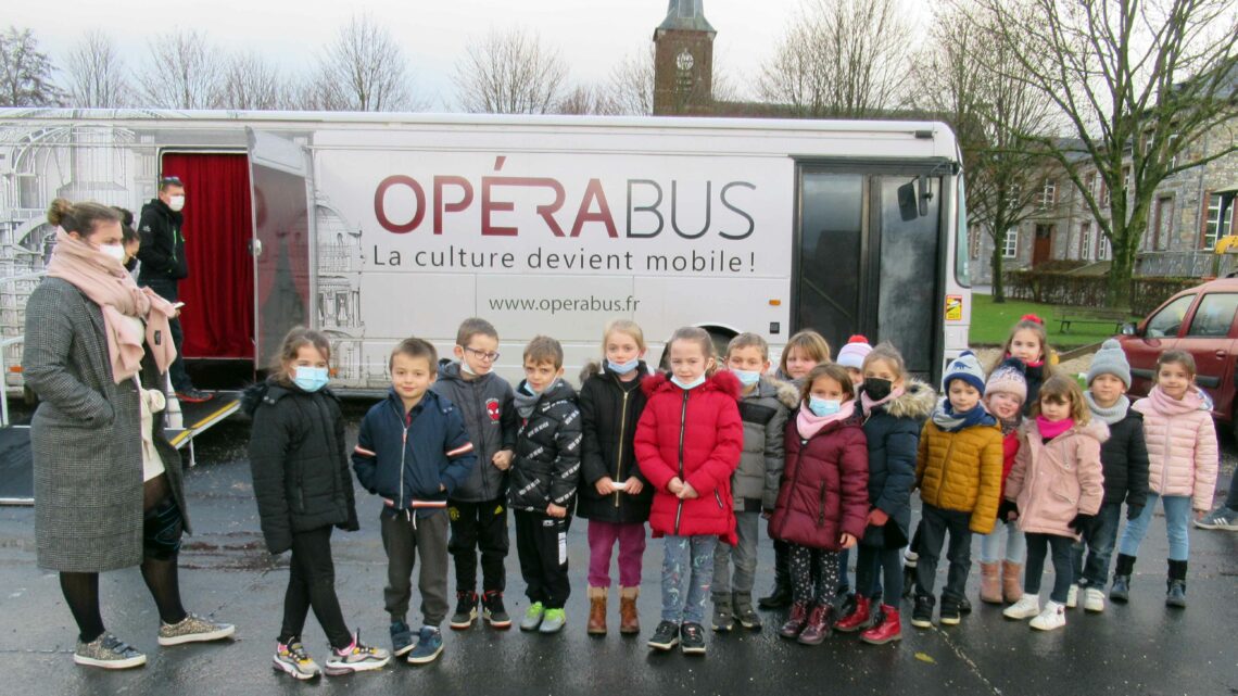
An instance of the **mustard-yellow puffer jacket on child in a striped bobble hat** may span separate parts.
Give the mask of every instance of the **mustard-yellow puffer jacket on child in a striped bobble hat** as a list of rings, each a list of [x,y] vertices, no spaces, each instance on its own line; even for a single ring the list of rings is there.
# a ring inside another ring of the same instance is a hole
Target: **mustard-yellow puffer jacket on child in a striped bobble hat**
[[[947,432],[927,421],[920,433],[916,485],[925,503],[971,513],[968,526],[976,534],[993,531],[1002,498],[1002,427]]]

